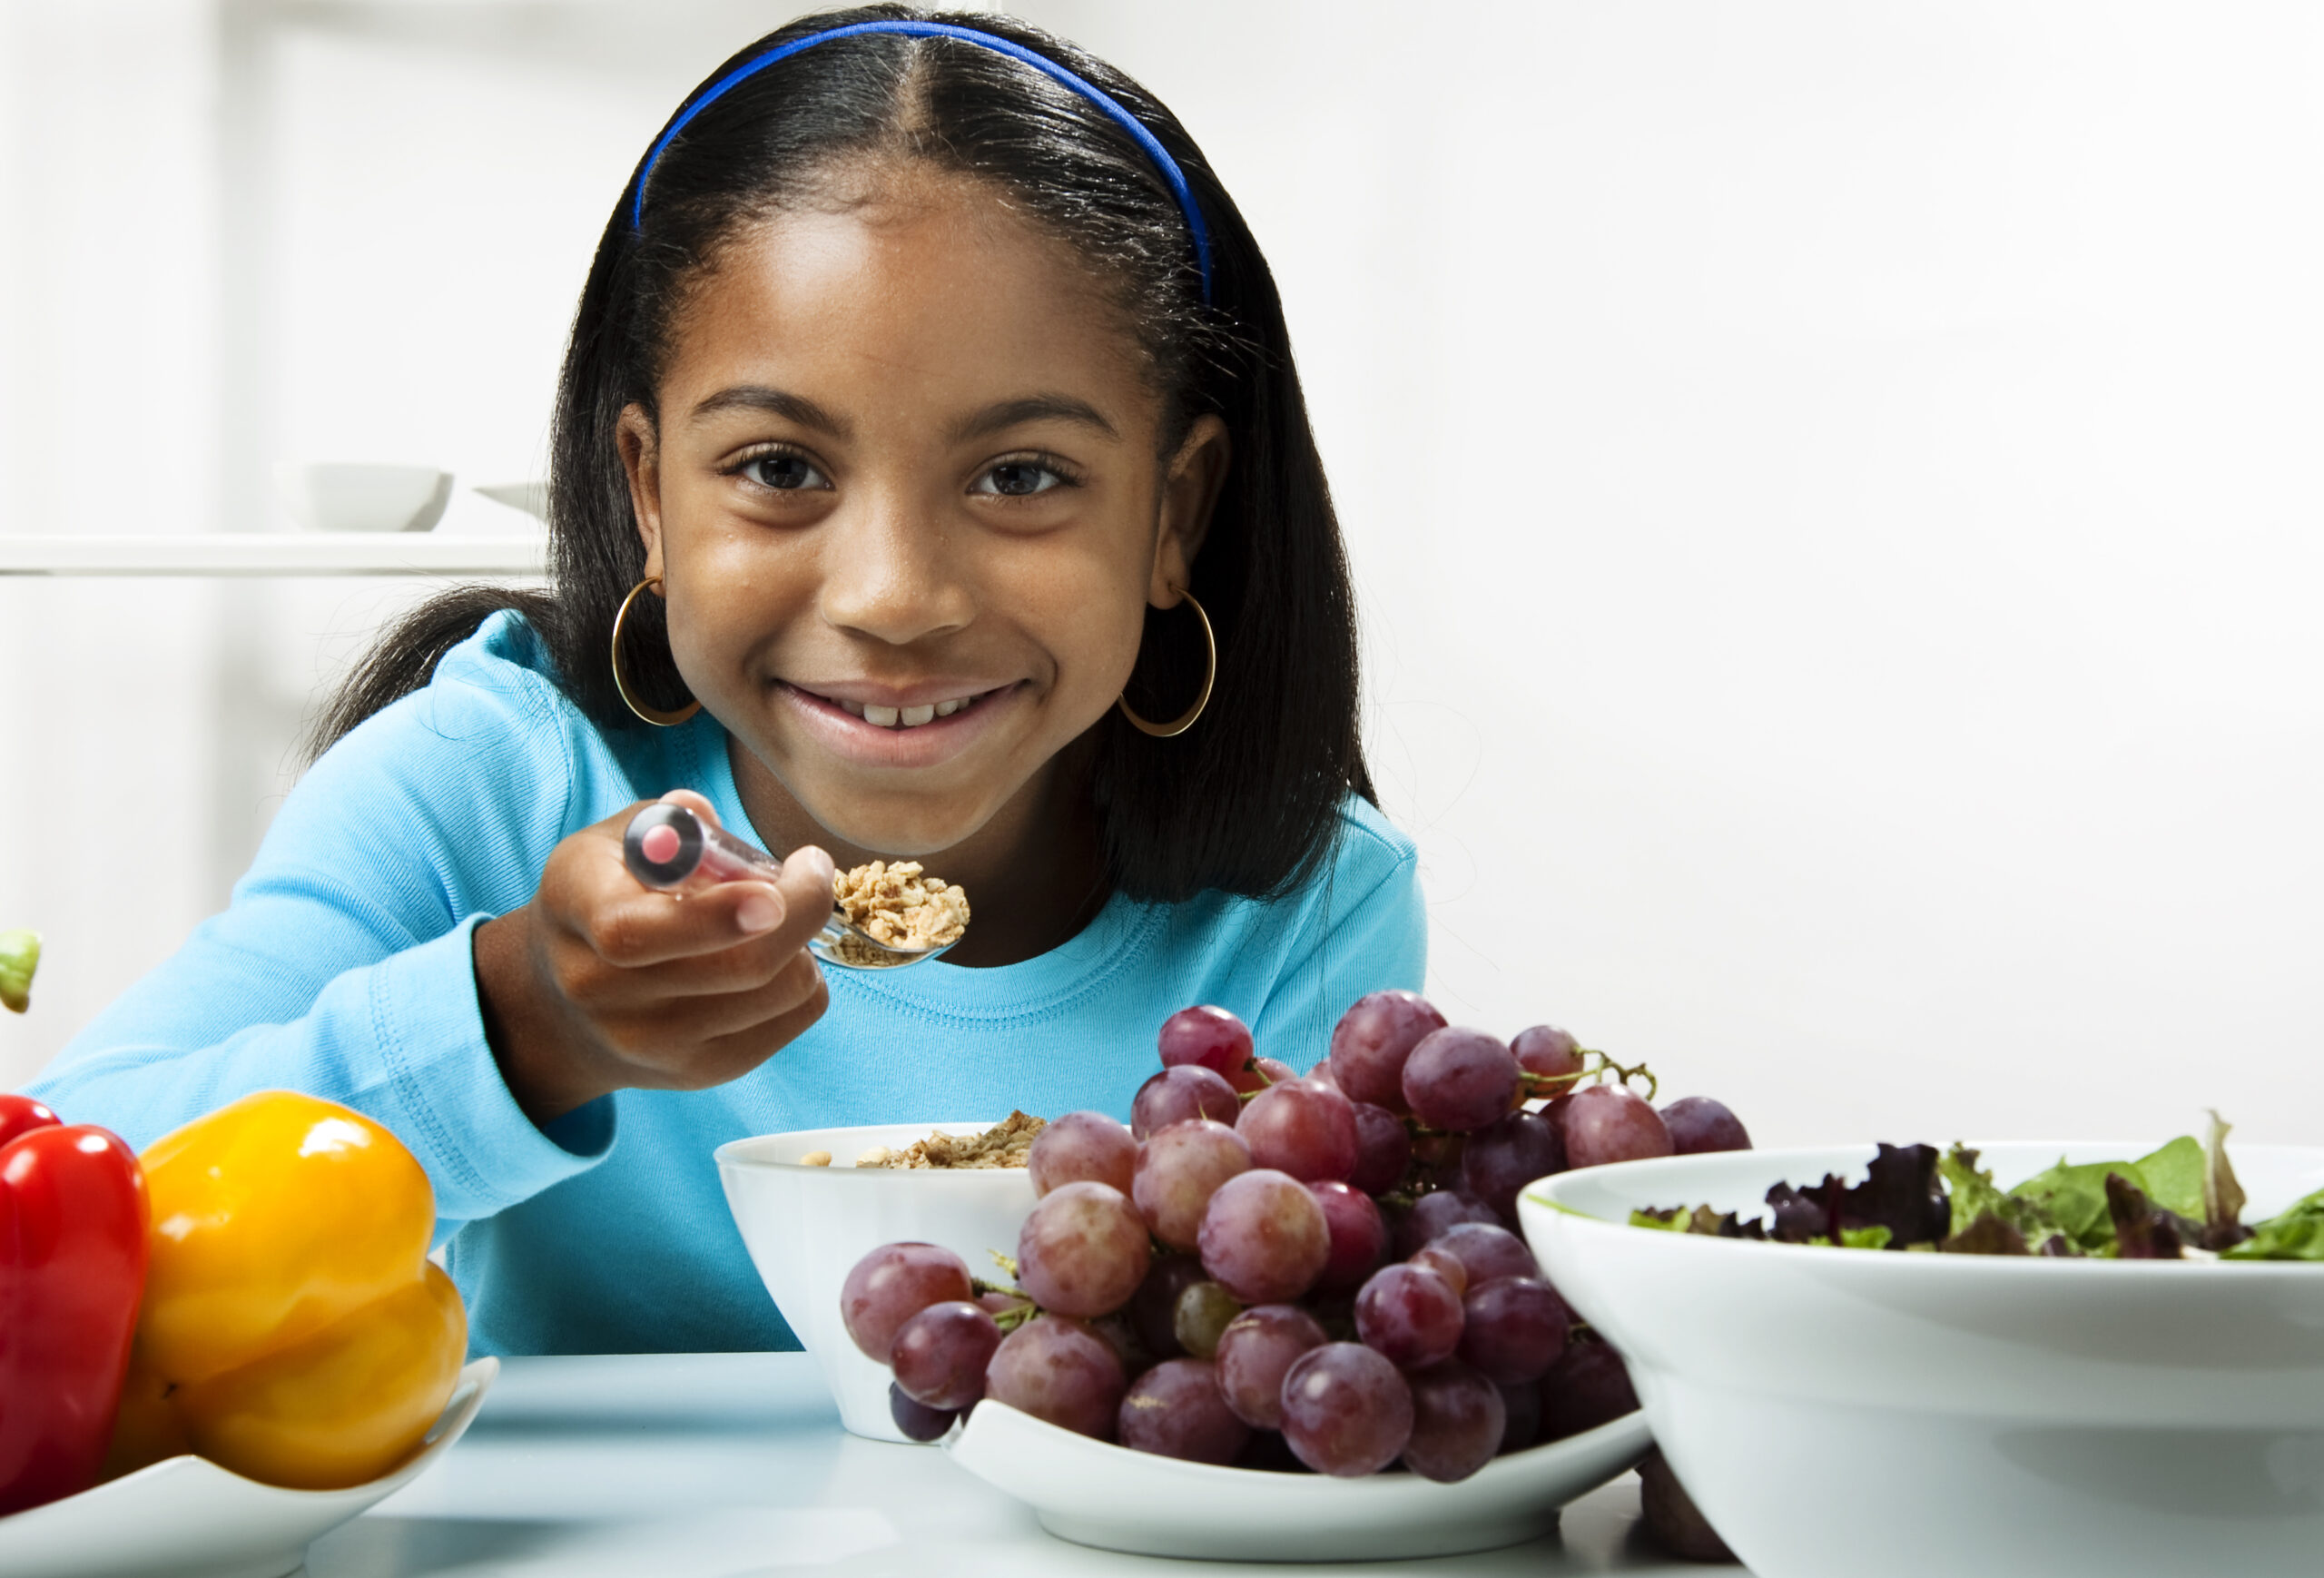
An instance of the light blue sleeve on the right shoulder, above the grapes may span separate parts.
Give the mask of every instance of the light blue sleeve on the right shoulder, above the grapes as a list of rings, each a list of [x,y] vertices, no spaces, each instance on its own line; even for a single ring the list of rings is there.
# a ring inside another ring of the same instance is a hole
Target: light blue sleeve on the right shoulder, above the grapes
[[[1301,911],[1253,1034],[1262,1050],[1292,1048],[1304,1074],[1329,1050],[1332,1027],[1357,997],[1420,990],[1429,962],[1420,853],[1369,804],[1353,804]]]

